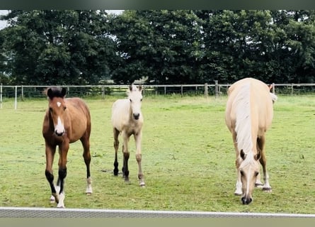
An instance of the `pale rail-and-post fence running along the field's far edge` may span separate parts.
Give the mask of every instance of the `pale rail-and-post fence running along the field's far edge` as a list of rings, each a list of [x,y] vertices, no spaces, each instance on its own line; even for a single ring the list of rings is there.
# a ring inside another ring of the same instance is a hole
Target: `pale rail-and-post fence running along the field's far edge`
[[[181,96],[219,96],[227,95],[231,84],[142,84],[143,94],[154,95],[181,95]],[[0,84],[0,109],[6,100],[14,100],[14,109],[18,101],[45,97],[44,90],[48,85],[3,85]],[[104,85],[62,85],[67,88],[67,96],[100,97],[125,96],[129,84]],[[281,95],[315,95],[315,84],[273,84],[272,91]]]

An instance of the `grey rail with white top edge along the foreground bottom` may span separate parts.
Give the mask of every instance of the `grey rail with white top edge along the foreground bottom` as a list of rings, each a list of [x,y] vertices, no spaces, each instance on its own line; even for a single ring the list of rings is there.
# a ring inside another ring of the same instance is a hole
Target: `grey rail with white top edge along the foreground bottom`
[[[315,214],[0,207],[0,218],[315,218]]]

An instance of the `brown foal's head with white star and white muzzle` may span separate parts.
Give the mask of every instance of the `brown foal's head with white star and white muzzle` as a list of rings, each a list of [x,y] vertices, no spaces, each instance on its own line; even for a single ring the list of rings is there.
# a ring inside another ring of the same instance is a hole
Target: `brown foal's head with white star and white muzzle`
[[[49,100],[48,109],[50,118],[54,123],[54,133],[57,136],[62,136],[65,133],[64,129],[64,113],[67,109],[66,103],[64,101],[64,96],[66,96],[67,89],[62,88],[48,88],[47,96]]]

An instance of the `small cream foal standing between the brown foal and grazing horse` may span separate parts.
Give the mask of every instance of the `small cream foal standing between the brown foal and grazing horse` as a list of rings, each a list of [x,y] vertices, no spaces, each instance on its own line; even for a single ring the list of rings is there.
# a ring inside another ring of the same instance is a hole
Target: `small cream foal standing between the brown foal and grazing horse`
[[[141,167],[141,140],[142,140],[142,125],[143,116],[141,113],[142,102],[142,87],[138,88],[133,84],[127,90],[128,99],[118,99],[114,102],[112,108],[112,124],[114,133],[114,148],[115,148],[115,161],[114,161],[114,175],[118,175],[118,135],[122,134],[122,153],[123,153],[123,167],[122,175],[125,177],[125,182],[129,182],[128,160],[130,152],[128,150],[128,141],[130,135],[134,135],[136,143],[136,160],[138,163],[138,178],[139,185],[144,187],[144,177]]]

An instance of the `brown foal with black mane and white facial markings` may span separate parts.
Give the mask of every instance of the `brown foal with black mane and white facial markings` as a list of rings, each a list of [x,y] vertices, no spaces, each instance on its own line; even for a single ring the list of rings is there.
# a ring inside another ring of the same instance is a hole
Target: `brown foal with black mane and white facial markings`
[[[57,202],[57,207],[64,207],[64,179],[67,176],[67,153],[69,143],[81,140],[84,148],[87,187],[86,194],[92,193],[90,173],[90,133],[91,116],[88,106],[79,98],[64,99],[67,90],[52,87],[46,89],[48,109],[42,124],[42,135],[45,138],[46,170],[45,175],[52,189],[50,200]],[[57,186],[54,185],[52,162],[56,147],[59,147],[59,171]]]

